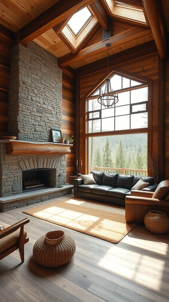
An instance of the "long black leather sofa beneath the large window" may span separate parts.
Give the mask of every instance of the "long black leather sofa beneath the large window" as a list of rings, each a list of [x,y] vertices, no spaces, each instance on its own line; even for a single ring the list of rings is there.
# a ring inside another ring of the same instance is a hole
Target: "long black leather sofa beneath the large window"
[[[143,191],[154,192],[157,184],[154,177],[91,172],[96,184],[84,185],[83,179],[74,179],[74,196],[125,206],[125,197],[131,195],[131,188],[142,179],[149,185]]]

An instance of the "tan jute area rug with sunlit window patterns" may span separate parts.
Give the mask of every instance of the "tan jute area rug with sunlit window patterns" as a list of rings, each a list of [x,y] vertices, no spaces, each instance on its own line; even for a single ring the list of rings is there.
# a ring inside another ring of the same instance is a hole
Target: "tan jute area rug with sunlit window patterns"
[[[23,213],[115,244],[137,224],[126,224],[123,207],[80,198],[56,201]]]

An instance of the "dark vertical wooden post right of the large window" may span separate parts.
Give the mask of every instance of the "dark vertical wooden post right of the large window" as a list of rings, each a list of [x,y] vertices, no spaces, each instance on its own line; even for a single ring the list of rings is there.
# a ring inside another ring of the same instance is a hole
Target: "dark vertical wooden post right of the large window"
[[[158,169],[161,182],[165,178],[165,60],[158,58]]]

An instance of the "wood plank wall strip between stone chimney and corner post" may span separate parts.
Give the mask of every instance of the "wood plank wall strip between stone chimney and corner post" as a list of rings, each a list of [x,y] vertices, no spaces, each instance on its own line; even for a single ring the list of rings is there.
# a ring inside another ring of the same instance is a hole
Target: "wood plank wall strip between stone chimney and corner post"
[[[74,136],[75,129],[75,100],[74,100],[74,75],[71,69],[63,69],[62,75],[62,135]],[[74,137],[75,138],[75,137]],[[74,175],[74,146],[70,147],[71,154],[66,155],[66,182],[69,176]]]

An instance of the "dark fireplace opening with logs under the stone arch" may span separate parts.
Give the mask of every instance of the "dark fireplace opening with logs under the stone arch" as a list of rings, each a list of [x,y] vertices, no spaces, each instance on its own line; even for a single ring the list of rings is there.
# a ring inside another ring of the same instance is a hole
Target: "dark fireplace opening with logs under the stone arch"
[[[53,173],[56,169],[32,169],[22,172],[22,192],[56,187],[53,182]]]

